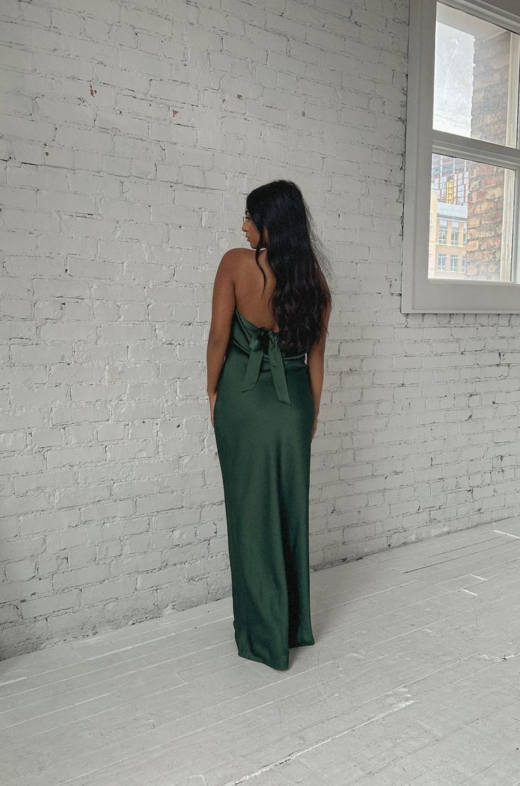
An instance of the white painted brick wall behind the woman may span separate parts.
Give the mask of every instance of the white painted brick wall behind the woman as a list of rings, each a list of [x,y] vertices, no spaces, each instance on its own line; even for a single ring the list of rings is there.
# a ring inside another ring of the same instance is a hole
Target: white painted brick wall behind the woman
[[[2,656],[229,594],[214,273],[298,182],[335,265],[311,560],[518,513],[520,318],[400,312],[406,0],[6,0]]]

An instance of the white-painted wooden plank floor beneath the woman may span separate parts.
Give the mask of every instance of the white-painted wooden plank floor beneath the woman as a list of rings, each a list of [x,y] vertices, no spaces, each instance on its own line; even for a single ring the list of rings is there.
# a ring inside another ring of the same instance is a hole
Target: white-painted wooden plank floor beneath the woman
[[[311,575],[313,647],[231,597],[0,663],[2,786],[520,784],[520,519]]]

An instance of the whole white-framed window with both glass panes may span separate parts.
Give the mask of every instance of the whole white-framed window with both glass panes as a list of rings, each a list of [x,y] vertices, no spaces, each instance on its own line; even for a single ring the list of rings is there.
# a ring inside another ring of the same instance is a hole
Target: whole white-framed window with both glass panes
[[[403,314],[520,313],[519,86],[520,4],[410,0]]]

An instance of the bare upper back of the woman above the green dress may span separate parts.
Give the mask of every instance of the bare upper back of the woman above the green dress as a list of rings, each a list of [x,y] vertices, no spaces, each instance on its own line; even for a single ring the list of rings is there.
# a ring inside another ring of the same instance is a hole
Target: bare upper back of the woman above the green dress
[[[264,277],[255,262],[255,251],[249,248],[244,248],[243,251],[244,255],[240,256],[235,273],[236,308],[253,325],[277,332],[279,327],[269,305],[269,297],[273,294],[276,286],[276,277],[267,263],[265,249],[258,255],[258,264],[262,266],[265,273],[263,295]]]

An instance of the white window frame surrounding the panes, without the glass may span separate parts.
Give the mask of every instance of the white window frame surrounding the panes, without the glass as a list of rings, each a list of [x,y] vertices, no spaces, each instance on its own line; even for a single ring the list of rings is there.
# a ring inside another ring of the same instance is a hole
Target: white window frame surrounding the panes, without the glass
[[[520,35],[519,0],[442,2]],[[437,0],[410,0],[401,313],[520,314],[520,149],[433,128],[436,12]],[[428,278],[434,152],[515,170],[511,281]]]

